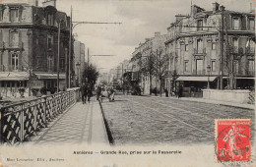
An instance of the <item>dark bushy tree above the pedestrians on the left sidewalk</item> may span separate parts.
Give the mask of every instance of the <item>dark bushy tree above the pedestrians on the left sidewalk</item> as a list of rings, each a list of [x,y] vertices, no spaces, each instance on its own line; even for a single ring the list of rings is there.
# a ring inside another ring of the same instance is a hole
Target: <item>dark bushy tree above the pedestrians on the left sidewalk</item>
[[[96,66],[87,63],[85,64],[85,69],[83,72],[83,83],[88,83],[90,88],[93,89],[93,87],[96,84],[96,80],[99,76],[99,73],[96,71]]]

